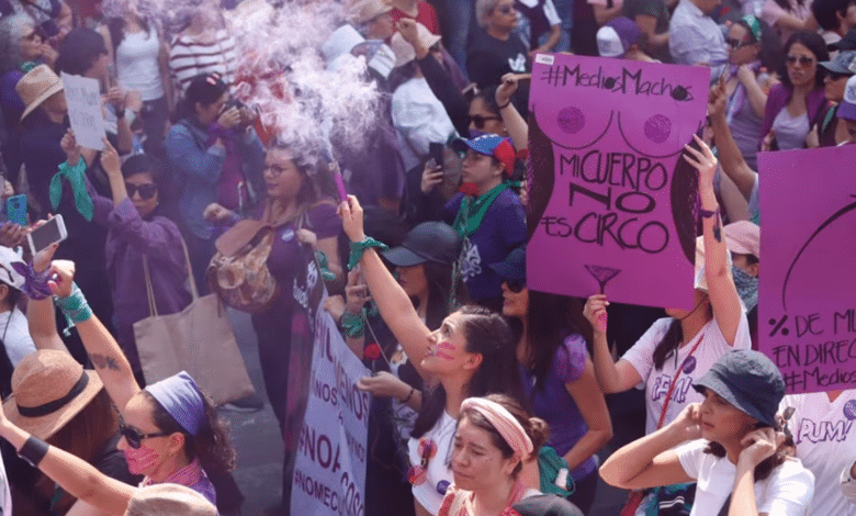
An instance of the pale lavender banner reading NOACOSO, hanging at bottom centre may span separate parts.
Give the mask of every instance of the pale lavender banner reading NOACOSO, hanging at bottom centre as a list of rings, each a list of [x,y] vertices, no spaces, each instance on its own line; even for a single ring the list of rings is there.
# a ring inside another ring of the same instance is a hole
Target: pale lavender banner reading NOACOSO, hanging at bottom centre
[[[371,396],[357,389],[357,380],[369,374],[330,315],[319,309],[308,405],[292,478],[291,514],[364,513]]]

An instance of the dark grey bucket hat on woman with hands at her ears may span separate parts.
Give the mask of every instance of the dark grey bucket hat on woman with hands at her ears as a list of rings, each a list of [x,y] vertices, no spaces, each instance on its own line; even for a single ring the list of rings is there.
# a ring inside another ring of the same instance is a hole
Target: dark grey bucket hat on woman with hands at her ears
[[[744,414],[766,426],[777,427],[776,411],[785,397],[785,379],[779,368],[766,355],[751,349],[734,349],[692,384],[719,394]]]

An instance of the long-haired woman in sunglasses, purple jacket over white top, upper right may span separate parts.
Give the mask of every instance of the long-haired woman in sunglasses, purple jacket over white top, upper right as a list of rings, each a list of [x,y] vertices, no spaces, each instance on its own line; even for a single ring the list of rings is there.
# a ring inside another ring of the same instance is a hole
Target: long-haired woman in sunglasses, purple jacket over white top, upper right
[[[803,148],[826,103],[825,69],[818,68],[818,63],[830,58],[823,38],[813,32],[797,32],[785,44],[785,55],[781,82],[770,88],[764,109],[762,150]]]

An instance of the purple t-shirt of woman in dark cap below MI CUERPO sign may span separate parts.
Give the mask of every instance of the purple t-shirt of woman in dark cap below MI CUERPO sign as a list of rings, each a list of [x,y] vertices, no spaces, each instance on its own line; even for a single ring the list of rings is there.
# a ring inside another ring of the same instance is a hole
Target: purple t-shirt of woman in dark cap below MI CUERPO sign
[[[542,390],[534,389],[531,371],[520,366],[526,396],[531,401],[536,416],[550,425],[550,439],[547,441],[556,453],[563,456],[588,431],[588,425],[579,414],[574,399],[565,384],[579,380],[586,369],[586,341],[579,334],[565,338],[555,351],[553,364],[544,379]],[[596,469],[594,456],[586,459],[571,472],[574,480],[585,479]]]

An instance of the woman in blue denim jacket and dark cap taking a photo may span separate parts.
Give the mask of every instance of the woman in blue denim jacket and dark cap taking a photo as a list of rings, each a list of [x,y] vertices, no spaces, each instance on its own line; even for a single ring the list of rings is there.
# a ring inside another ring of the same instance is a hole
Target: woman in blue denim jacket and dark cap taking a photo
[[[211,203],[248,213],[262,191],[264,149],[254,116],[246,108],[227,106],[228,86],[217,74],[194,77],[184,94],[179,122],[165,146],[173,183],[181,192],[179,211],[188,229],[188,250],[196,285],[206,291],[205,269],[214,256],[216,235],[203,211]]]

